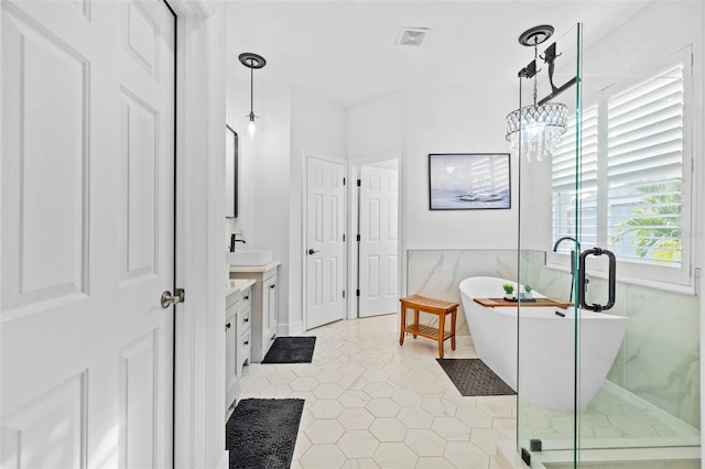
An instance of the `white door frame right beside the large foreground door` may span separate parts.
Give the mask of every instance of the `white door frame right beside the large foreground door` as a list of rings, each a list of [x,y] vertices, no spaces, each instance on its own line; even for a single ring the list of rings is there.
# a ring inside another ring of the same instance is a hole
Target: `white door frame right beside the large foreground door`
[[[174,467],[226,469],[225,4],[167,0],[176,14]],[[215,184],[212,184],[215,183]],[[204,212],[198,207],[207,207]]]

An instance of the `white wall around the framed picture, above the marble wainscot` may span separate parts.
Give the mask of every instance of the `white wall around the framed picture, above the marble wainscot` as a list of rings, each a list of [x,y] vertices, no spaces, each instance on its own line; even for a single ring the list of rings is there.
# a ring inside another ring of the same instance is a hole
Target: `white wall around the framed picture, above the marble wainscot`
[[[517,247],[518,167],[513,159],[511,209],[429,209],[429,154],[509,152],[503,122],[517,106],[514,92],[430,85],[400,90],[349,110],[350,161],[393,151],[402,154],[402,294],[408,250]]]

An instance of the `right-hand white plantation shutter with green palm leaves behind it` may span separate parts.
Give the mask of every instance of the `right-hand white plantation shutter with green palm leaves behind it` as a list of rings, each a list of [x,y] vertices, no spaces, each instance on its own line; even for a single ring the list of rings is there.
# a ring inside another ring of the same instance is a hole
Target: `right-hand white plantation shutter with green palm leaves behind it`
[[[621,260],[681,266],[683,68],[607,100],[607,232]]]

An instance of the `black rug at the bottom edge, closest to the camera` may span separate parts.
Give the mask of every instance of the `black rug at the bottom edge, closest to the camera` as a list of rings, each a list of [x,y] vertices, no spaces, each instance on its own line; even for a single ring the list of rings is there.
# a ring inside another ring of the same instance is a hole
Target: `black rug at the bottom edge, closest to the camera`
[[[230,469],[289,469],[303,399],[243,399],[225,429]]]

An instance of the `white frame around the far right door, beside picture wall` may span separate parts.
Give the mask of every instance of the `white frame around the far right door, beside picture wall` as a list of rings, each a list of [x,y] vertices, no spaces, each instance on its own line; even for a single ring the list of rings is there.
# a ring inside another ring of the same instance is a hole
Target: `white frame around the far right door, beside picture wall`
[[[350,242],[348,243],[348,286],[347,291],[350,292],[348,295],[348,319],[357,319],[359,317],[359,301],[357,295],[352,295],[351,292],[357,290],[358,285],[358,265],[359,265],[359,246],[357,241],[351,241],[358,234],[359,230],[359,211],[360,207],[358,206],[359,200],[359,189],[357,187],[357,179],[360,177],[360,171],[364,165],[370,163],[377,163],[386,160],[397,160],[397,181],[398,181],[398,201],[397,201],[397,251],[398,251],[398,265],[397,265],[397,281],[399,285],[397,285],[397,291],[400,296],[403,296],[403,292],[405,287],[405,279],[404,275],[406,269],[406,259],[403,257],[404,252],[404,242],[403,242],[403,218],[404,211],[403,207],[403,184],[402,184],[402,175],[403,175],[403,152],[401,150],[393,150],[386,153],[379,153],[372,156],[366,156],[358,160],[351,160],[349,164],[348,174],[350,175],[350,184],[348,184],[348,226],[350,227],[348,232],[348,239]]]

